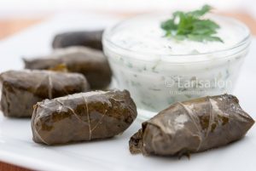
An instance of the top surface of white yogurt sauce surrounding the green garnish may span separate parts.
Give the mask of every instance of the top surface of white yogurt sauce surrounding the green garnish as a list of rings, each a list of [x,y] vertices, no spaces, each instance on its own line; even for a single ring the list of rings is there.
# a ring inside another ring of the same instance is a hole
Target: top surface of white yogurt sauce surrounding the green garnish
[[[122,48],[132,51],[154,54],[205,54],[234,46],[244,37],[239,27],[234,23],[215,19],[220,26],[218,33],[214,36],[221,37],[220,42],[195,42],[190,40],[176,41],[165,37],[165,31],[160,28],[161,21],[166,19],[153,18],[143,21],[134,20],[132,25],[117,31],[111,41],[119,44]]]

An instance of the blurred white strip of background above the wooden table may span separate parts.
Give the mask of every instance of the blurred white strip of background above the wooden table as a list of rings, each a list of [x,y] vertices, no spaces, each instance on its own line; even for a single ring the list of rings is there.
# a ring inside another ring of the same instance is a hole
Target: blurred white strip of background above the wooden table
[[[108,12],[136,13],[172,8],[196,8],[208,3],[221,10],[239,10],[253,13],[254,0],[1,0],[3,16],[47,14],[67,10],[100,10]]]

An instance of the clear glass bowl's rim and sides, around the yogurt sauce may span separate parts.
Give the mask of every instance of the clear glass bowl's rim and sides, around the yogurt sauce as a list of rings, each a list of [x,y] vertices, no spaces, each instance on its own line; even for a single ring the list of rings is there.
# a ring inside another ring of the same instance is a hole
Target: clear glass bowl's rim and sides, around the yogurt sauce
[[[247,26],[213,15],[241,29],[243,35],[239,43],[229,48],[204,54],[148,53],[124,48],[111,39],[122,29],[159,17],[167,18],[166,14],[147,14],[122,21],[108,28],[102,39],[118,87],[130,91],[138,109],[148,111],[139,113],[141,117],[153,117],[177,101],[231,94],[250,44]]]

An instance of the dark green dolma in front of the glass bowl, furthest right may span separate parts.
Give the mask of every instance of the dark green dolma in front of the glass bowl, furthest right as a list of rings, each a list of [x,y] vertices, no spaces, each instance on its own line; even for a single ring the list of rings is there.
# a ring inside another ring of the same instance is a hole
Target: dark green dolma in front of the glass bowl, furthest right
[[[253,123],[230,94],[178,102],[142,124],[130,151],[181,157],[240,140]]]

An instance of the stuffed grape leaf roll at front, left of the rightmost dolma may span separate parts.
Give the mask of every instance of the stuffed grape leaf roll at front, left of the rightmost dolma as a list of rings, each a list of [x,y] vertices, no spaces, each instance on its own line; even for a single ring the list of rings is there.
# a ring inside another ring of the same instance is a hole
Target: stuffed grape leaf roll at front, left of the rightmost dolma
[[[102,140],[121,134],[137,117],[127,90],[92,91],[38,102],[33,140],[45,145]]]

